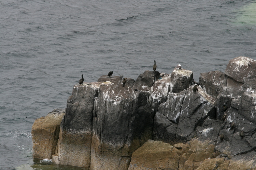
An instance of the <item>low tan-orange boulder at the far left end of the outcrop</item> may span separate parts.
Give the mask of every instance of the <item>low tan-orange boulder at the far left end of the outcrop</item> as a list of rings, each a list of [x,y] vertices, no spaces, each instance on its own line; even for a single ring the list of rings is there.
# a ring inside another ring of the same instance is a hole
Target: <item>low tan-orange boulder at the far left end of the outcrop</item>
[[[47,116],[35,119],[32,126],[33,158],[51,159],[59,138],[64,109],[55,109]]]

